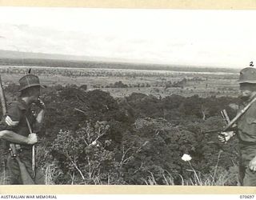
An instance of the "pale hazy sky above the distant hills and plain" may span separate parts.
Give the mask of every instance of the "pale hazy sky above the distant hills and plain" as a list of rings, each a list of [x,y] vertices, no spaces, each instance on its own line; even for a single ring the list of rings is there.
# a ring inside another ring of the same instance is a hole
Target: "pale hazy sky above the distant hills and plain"
[[[0,7],[0,49],[256,66],[256,10]]]

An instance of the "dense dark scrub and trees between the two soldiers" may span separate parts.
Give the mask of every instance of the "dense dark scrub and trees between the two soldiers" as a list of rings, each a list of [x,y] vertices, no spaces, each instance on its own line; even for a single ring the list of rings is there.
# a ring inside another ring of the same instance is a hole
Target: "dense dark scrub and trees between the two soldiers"
[[[195,173],[206,185],[237,183],[237,141],[222,145],[217,132],[206,134],[225,125],[220,110],[234,117],[236,98],[114,99],[78,86],[48,87],[43,96],[38,164],[48,184],[202,184]]]

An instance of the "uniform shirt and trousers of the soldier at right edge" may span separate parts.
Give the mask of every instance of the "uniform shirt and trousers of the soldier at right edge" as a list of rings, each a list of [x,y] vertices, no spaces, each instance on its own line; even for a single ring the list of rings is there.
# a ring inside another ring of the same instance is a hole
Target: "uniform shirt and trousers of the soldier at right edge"
[[[246,105],[241,104],[239,110]],[[249,162],[256,156],[256,102],[238,119],[239,182],[242,186],[256,186],[256,172],[250,170]]]

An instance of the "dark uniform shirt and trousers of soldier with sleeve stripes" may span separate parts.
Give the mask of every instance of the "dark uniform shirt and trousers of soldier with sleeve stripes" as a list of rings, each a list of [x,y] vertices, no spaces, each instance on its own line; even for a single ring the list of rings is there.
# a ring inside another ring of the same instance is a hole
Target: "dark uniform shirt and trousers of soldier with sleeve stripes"
[[[30,122],[31,128],[34,126],[36,118],[32,114],[30,107],[26,105],[22,99],[18,99],[18,102],[12,102],[8,106],[8,110],[3,116],[0,122],[0,130],[12,130],[16,134],[21,134],[27,137],[30,134],[29,127],[26,122],[26,118]],[[8,145],[9,146],[9,145]],[[21,153],[19,157],[21,161],[25,164],[26,170],[32,174],[32,146],[31,145],[20,145]],[[7,159],[7,166],[10,170],[10,184],[22,184],[20,177],[20,170],[18,167],[18,162],[10,156]],[[34,181],[37,184],[43,184],[42,173],[36,173]]]

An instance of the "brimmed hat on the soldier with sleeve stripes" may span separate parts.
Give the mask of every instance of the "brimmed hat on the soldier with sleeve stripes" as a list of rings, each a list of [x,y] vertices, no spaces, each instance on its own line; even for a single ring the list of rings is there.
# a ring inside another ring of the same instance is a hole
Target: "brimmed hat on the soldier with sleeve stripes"
[[[26,74],[22,78],[19,79],[19,91],[25,90],[26,88],[32,87],[32,86],[42,86],[39,82],[38,76],[34,74]]]

